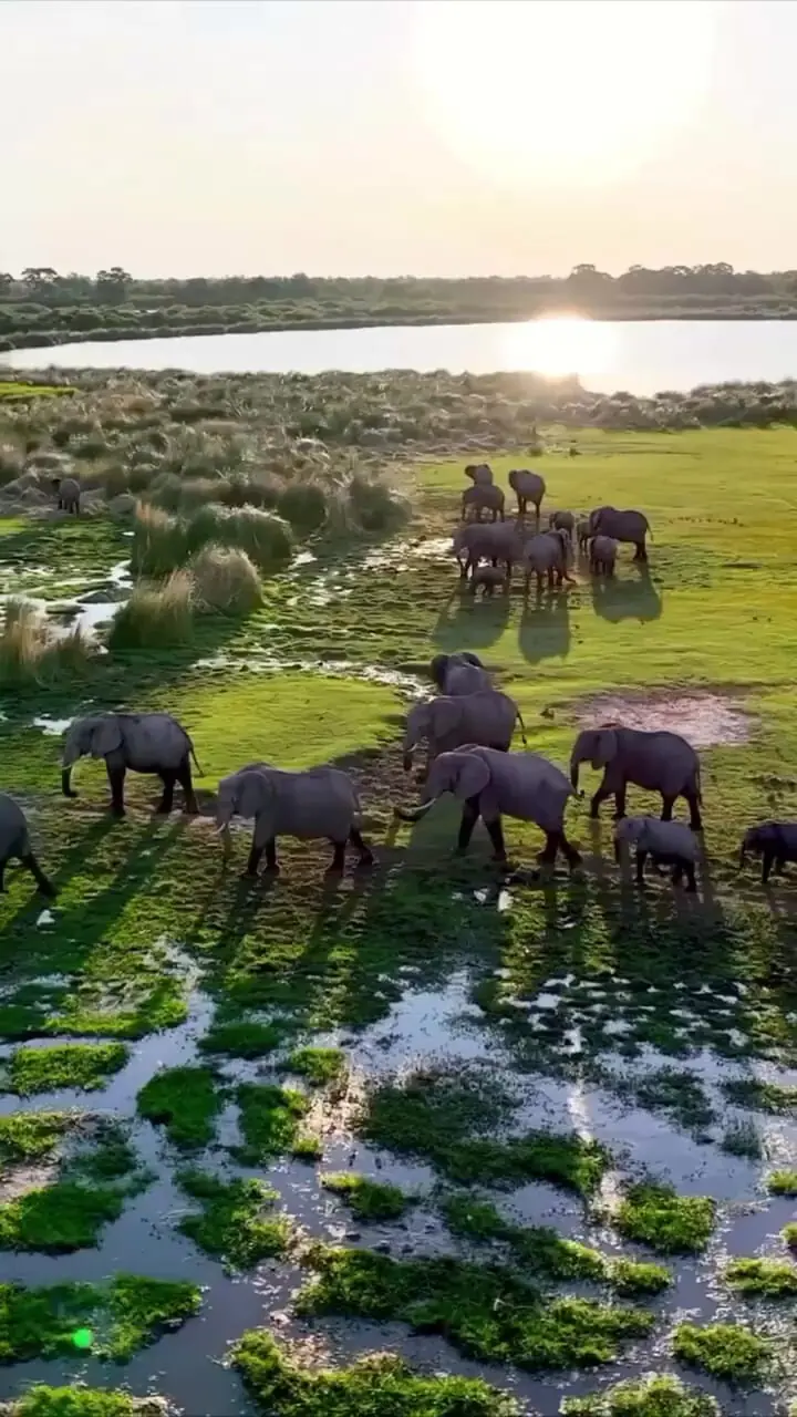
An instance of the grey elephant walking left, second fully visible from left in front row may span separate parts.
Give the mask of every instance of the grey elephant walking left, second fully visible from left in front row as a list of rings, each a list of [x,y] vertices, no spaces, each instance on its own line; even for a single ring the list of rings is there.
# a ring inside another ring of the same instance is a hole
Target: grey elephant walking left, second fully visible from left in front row
[[[267,870],[279,871],[277,837],[303,840],[328,837],[333,846],[329,874],[339,876],[346,864],[346,845],[360,853],[360,866],[373,864],[373,853],[360,836],[362,808],[357,789],[339,768],[308,768],[288,772],[268,762],[250,762],[218,784],[216,822],[224,839],[224,856],[231,852],[230,818],[252,819],[254,833],[247,876],[257,876],[262,853]]]

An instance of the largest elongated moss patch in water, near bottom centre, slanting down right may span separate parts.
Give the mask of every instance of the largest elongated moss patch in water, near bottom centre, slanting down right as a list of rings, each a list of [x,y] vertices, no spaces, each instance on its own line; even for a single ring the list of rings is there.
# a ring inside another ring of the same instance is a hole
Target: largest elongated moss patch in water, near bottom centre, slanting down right
[[[529,1369],[607,1363],[624,1339],[644,1336],[654,1323],[641,1309],[550,1299],[499,1265],[401,1263],[325,1246],[313,1248],[309,1263],[318,1278],[296,1299],[301,1315],[401,1319],[418,1332],[445,1335],[481,1362]]]

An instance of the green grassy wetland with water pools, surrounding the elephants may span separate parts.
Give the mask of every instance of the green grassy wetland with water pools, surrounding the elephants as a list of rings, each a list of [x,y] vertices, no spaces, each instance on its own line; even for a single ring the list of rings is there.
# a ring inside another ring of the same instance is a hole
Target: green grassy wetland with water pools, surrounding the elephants
[[[737,856],[797,818],[791,388],[67,387],[0,407],[0,786],[58,888],[10,866],[0,896],[0,1401],[779,1417],[797,897]],[[447,546],[479,455],[503,486],[539,468],[543,509],[644,509],[647,571],[623,548],[614,581],[576,561],[563,591],[474,601]],[[516,820],[501,873],[482,828],[452,856],[451,802],[394,820],[403,716],[452,649],[559,764],[583,723],[691,738],[696,897],[640,893],[581,801],[573,877],[539,879]],[[88,706],[174,713],[200,815],[153,816],[130,775],[112,819],[91,760],[62,799]],[[260,758],[346,767],[376,867],[330,883],[326,845],[286,839],[252,884],[244,823],[225,866],[216,786]]]

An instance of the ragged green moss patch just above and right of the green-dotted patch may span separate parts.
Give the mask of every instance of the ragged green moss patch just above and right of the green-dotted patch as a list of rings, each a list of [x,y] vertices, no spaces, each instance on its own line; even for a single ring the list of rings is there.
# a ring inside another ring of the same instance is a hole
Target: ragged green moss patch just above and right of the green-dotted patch
[[[206,1254],[238,1270],[284,1254],[291,1237],[286,1216],[267,1216],[278,1199],[260,1180],[223,1182],[201,1170],[182,1170],[177,1182],[201,1204],[201,1214],[184,1216],[179,1230]]]

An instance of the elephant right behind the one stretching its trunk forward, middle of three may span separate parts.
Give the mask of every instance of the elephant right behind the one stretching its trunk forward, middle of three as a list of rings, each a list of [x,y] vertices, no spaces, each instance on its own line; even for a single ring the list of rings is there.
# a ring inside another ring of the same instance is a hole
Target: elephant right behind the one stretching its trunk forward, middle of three
[[[425,738],[428,744],[427,768],[434,758],[464,743],[482,743],[486,748],[506,752],[512,743],[515,720],[520,724],[520,735],[526,741],[526,728],[520,710],[509,694],[498,689],[482,689],[475,694],[452,697],[441,694],[417,703],[407,714],[404,731],[404,772],[413,767],[413,748]]]

